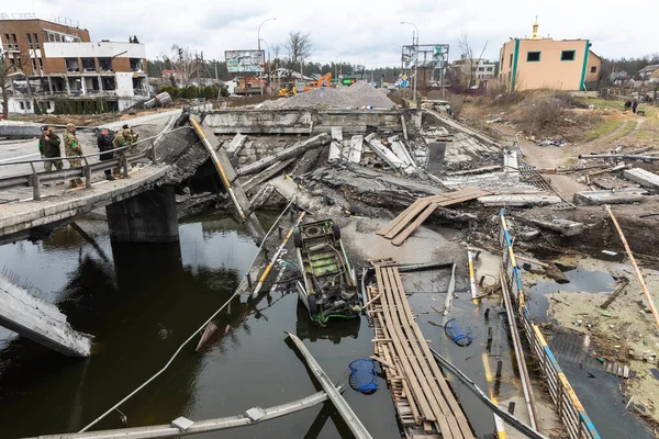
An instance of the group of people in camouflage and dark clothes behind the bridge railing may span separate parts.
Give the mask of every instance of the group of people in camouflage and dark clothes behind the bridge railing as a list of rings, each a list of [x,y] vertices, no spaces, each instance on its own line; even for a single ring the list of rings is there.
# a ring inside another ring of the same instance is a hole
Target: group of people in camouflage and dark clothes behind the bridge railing
[[[55,167],[57,170],[62,170],[64,168],[64,164],[62,162],[62,151],[59,149],[60,139],[55,132],[53,132],[53,127],[44,125],[41,128],[42,135],[38,139],[38,151],[42,155],[42,158],[48,159],[44,161],[44,169],[46,171],[53,170]],[[122,156],[125,154],[127,149],[129,154],[137,153],[137,142],[138,134],[133,131],[127,124],[125,124],[122,130],[115,135],[111,135],[108,128],[101,128],[100,133],[97,135],[97,146],[99,150],[103,154],[99,156],[101,161],[112,160],[114,158],[114,149],[120,149],[116,151],[118,156]],[[76,125],[67,124],[66,131],[64,133],[64,150],[68,158],[69,166],[71,168],[80,168],[82,166],[82,160],[80,156],[82,155],[82,146],[80,145],[80,140],[76,136]],[[108,180],[114,180],[114,176],[119,176],[119,167],[114,169],[105,169],[105,178]],[[114,175],[113,175],[114,173]],[[70,180],[71,188],[77,188],[82,185],[81,179],[72,179]]]

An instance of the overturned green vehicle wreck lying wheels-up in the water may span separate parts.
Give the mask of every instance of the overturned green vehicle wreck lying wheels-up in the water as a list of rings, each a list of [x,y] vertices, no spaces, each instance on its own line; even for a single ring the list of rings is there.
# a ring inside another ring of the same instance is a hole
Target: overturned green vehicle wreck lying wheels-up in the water
[[[338,226],[332,219],[303,224],[294,229],[293,241],[302,272],[298,295],[311,319],[325,324],[332,317],[357,317],[357,283]]]

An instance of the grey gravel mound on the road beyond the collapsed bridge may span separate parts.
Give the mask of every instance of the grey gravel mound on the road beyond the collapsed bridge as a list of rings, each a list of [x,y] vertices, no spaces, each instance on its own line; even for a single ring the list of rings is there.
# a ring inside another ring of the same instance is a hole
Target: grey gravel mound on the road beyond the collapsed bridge
[[[338,89],[322,87],[315,90],[298,93],[292,98],[281,98],[266,101],[265,109],[392,109],[395,104],[381,91],[367,82]]]

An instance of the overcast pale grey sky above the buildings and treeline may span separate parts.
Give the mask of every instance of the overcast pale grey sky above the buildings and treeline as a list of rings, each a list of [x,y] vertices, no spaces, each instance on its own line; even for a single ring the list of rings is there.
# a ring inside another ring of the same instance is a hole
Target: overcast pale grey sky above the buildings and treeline
[[[538,15],[540,33],[556,40],[588,38],[604,57],[637,57],[659,52],[659,2],[632,4],[613,0],[23,0],[4,1],[0,12],[35,12],[40,18],[67,16],[90,31],[92,41],[126,41],[137,35],[155,58],[172,44],[224,59],[224,50],[255,48],[259,23],[270,46],[283,43],[289,31],[309,32],[314,53],[310,60],[331,63],[343,52],[344,61],[369,68],[400,65],[400,45],[411,44],[411,25],[418,26],[421,44],[448,43],[450,58],[459,57],[458,37],[465,32],[476,54],[499,57],[509,37],[532,32]],[[621,18],[624,16],[624,20]],[[644,23],[645,21],[645,23]],[[264,46],[265,48],[265,46]],[[282,54],[283,55],[283,54]]]

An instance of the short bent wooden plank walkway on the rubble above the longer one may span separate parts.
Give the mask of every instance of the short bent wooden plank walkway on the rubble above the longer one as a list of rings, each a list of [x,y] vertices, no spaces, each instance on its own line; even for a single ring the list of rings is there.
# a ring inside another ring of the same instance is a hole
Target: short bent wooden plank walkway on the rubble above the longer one
[[[387,226],[377,232],[378,235],[391,239],[394,246],[402,245],[421,225],[437,210],[451,204],[462,203],[490,192],[476,188],[465,188],[455,192],[440,193],[416,200]]]

